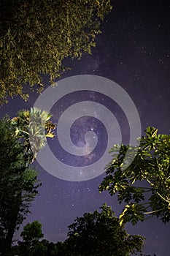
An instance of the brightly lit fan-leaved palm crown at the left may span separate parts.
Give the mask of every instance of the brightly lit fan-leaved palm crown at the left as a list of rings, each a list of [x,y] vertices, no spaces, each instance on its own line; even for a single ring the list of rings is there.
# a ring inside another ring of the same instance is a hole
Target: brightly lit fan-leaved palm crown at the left
[[[37,153],[46,145],[46,138],[54,138],[55,124],[50,121],[51,114],[39,108],[20,110],[18,116],[12,118],[15,134],[23,140],[25,157],[28,163],[36,159]]]

